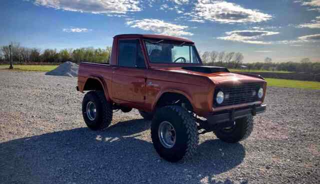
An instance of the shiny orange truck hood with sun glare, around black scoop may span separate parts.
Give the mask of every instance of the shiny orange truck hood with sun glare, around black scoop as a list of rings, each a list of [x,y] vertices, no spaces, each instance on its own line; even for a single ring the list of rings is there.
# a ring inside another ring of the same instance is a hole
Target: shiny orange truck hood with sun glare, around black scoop
[[[206,66],[203,66],[206,67]],[[261,77],[253,76],[253,75],[246,75],[246,74],[239,74],[239,73],[232,73],[229,72],[227,69],[224,71],[222,70],[222,67],[215,67],[220,69],[213,69],[214,71],[212,73],[208,73],[208,71],[194,71],[193,69],[190,70],[187,67],[152,67],[152,69],[156,70],[163,70],[163,71],[170,71],[170,72],[176,72],[176,73],[184,73],[189,75],[200,75],[209,78],[214,84],[242,84],[242,83],[263,83],[265,80],[263,80]],[[195,69],[198,70],[198,69]]]

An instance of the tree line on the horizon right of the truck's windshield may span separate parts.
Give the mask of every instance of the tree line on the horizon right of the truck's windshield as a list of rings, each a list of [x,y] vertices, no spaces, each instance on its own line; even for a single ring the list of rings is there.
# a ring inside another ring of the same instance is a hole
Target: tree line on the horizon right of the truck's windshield
[[[200,57],[205,65],[223,66],[227,68],[242,68],[250,70],[289,71],[320,73],[320,62],[311,62],[309,58],[302,58],[300,62],[272,62],[270,57],[266,57],[264,62],[243,63],[244,56],[240,52],[200,52]]]

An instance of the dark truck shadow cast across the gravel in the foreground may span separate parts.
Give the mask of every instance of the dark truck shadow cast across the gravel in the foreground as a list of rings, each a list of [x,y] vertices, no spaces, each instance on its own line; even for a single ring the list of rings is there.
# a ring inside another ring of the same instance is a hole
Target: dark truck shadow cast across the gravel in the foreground
[[[242,145],[208,140],[192,160],[172,164],[158,157],[152,143],[137,138],[149,126],[130,120],[105,131],[76,128],[0,143],[0,183],[232,184],[214,175],[242,162]]]

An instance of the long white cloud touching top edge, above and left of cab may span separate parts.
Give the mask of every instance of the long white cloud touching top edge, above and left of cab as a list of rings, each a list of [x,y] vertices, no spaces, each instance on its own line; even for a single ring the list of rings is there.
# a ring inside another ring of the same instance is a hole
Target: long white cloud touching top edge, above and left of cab
[[[140,11],[139,0],[34,0],[34,4],[66,11],[95,14],[125,14]]]

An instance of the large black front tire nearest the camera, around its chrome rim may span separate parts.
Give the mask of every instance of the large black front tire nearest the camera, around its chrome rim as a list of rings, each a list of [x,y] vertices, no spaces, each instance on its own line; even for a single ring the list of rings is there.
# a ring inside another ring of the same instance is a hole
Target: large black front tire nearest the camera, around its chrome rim
[[[175,129],[176,141],[172,148],[165,148],[158,136],[161,122],[167,121]],[[165,106],[158,109],[151,123],[151,139],[156,152],[168,162],[189,158],[198,146],[197,125],[192,115],[180,106]]]

